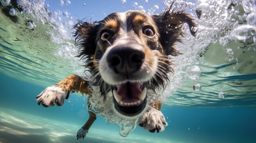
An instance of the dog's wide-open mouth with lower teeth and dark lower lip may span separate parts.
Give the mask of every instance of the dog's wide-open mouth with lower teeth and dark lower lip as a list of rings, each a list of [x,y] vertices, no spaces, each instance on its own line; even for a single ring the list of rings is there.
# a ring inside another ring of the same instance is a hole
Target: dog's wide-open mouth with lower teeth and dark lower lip
[[[113,90],[115,109],[125,116],[136,116],[146,106],[146,93],[142,82],[116,84]]]

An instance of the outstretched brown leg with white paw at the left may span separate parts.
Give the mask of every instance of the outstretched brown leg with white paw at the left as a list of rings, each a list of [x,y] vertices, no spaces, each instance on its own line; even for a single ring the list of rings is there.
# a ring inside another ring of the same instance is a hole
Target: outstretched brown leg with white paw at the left
[[[70,92],[81,92],[81,94],[90,94],[88,89],[88,81],[78,75],[69,75],[62,81],[53,86],[45,88],[37,97],[38,105],[42,104],[44,107],[62,106],[64,100],[68,99]]]

